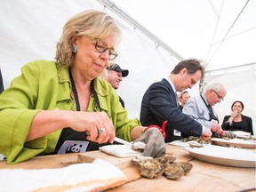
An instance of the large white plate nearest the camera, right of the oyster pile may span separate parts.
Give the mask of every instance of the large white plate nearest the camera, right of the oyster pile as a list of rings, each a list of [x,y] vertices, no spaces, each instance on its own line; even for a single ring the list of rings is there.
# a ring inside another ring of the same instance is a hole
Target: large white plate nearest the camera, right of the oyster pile
[[[256,153],[255,151],[243,148],[226,148],[205,145],[204,148],[184,147],[189,155],[207,163],[221,164],[236,167],[255,167]]]

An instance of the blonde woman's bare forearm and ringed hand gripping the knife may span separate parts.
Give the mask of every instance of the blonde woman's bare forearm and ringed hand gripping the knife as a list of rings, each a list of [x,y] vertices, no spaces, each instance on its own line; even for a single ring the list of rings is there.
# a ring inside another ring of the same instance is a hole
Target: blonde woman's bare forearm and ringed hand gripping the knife
[[[105,112],[42,110],[33,119],[27,141],[44,137],[64,127],[86,132],[87,140],[98,143],[113,143],[116,136],[114,126]]]

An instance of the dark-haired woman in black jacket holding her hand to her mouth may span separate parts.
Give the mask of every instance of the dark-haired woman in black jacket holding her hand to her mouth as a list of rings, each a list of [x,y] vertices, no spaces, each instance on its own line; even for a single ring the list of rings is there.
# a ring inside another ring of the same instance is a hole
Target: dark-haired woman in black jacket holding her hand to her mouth
[[[244,110],[244,103],[236,100],[231,106],[231,116],[224,116],[223,123],[221,125],[223,130],[229,131],[243,131],[251,132],[252,130],[252,118],[242,115]]]

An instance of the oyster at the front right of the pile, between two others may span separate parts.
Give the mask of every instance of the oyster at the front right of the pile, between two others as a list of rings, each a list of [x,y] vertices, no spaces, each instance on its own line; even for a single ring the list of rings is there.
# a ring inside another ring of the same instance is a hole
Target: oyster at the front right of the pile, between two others
[[[177,180],[183,175],[185,175],[185,172],[182,169],[182,166],[176,162],[168,164],[168,166],[164,169],[164,176],[170,180]]]

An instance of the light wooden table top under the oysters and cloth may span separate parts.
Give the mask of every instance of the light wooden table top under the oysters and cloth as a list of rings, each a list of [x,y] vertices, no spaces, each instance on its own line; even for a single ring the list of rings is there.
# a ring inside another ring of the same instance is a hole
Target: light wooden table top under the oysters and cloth
[[[3,168],[57,168],[75,164],[78,162],[92,162],[94,158],[102,158],[113,164],[118,164],[119,168],[126,174],[130,182],[118,188],[108,191],[256,191],[255,169],[222,166],[218,164],[208,164],[198,161],[181,147],[167,144],[168,156],[175,156],[177,161],[188,161],[193,164],[193,168],[188,175],[179,180],[167,180],[164,176],[156,179],[141,178],[134,166],[131,166],[131,158],[117,158],[100,151],[92,151],[84,154],[66,154],[54,156],[36,156],[20,164],[5,164],[0,161],[0,169]],[[128,162],[128,163],[127,163]],[[130,177],[130,178],[129,178]]]

